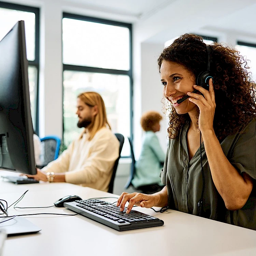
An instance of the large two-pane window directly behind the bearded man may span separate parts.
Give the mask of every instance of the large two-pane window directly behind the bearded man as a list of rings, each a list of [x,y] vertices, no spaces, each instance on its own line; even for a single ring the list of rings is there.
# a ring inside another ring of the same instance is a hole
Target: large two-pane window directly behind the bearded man
[[[131,25],[63,14],[63,141],[77,128],[76,98],[97,91],[103,98],[112,132],[131,136]],[[128,141],[122,156],[130,156]]]

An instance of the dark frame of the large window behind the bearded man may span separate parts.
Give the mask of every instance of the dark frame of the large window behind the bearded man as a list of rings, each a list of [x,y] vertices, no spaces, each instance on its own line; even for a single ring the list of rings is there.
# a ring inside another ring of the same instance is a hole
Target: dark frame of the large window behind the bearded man
[[[129,23],[122,23],[122,22],[116,22],[113,20],[107,20],[107,19],[100,19],[100,18],[94,18],[94,17],[88,17],[78,14],[71,14],[67,12],[63,12],[62,19],[63,18],[69,18],[69,19],[77,19],[82,20],[86,22],[94,22],[94,23],[100,23],[105,25],[113,25],[113,26],[119,26],[119,27],[126,27],[129,29],[129,44],[130,44],[130,69],[129,70],[118,70],[118,69],[105,69],[105,68],[96,68],[96,67],[88,67],[88,66],[79,66],[79,65],[69,65],[63,63],[63,52],[62,52],[62,65],[63,65],[63,72],[62,72],[62,113],[64,114],[64,105],[63,105],[63,99],[64,99],[64,89],[63,89],[63,81],[64,81],[64,71],[82,71],[82,72],[90,72],[90,73],[103,73],[103,74],[114,74],[114,75],[128,75],[130,78],[130,137],[133,138],[133,80],[132,80],[132,25]],[[63,41],[62,41],[63,42]],[[62,46],[63,48],[63,46]],[[62,141],[64,137],[64,117],[62,115]],[[130,158],[130,156],[122,156],[122,158]]]

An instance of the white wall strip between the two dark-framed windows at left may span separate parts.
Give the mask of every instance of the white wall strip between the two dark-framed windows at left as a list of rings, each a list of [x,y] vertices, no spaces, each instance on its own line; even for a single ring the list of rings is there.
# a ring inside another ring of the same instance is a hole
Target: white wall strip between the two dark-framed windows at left
[[[45,1],[40,11],[40,137],[62,137],[62,9]]]

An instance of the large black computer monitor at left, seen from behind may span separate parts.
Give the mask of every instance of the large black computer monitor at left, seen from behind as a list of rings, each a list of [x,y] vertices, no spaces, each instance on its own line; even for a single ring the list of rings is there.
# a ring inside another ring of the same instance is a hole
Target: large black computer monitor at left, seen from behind
[[[0,41],[0,169],[37,173],[23,20]]]

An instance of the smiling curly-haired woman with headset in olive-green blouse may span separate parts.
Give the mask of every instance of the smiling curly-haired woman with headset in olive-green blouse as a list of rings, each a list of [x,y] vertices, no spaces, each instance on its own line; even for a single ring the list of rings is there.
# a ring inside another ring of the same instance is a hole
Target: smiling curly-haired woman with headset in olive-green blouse
[[[256,230],[256,97],[235,49],[184,34],[158,58],[170,109],[169,148],[158,193],[122,193],[128,201]]]

